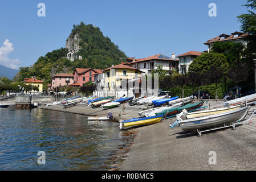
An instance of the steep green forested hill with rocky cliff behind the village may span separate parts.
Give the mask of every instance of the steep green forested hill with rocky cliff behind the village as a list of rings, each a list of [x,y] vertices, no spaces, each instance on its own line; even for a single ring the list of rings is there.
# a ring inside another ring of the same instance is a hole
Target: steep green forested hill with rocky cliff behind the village
[[[45,56],[40,56],[31,67],[19,68],[19,73],[14,77],[14,81],[23,81],[24,78],[34,76],[43,80],[44,88],[46,88],[46,84],[50,83],[51,76],[56,73],[72,73],[75,68],[104,69],[127,59],[125,53],[120,51],[108,37],[105,37],[100,28],[94,27],[92,24],[86,25],[81,22],[79,25],[74,25],[68,38],[75,35],[79,36],[80,40],[79,50],[76,53],[83,57],[82,60],[68,60],[64,57],[68,48],[62,47],[46,53]]]

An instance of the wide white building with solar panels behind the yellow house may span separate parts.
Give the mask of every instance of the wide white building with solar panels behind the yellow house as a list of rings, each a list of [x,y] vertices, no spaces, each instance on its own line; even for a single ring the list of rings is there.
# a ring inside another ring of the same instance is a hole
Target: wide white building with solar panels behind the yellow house
[[[127,63],[124,64],[139,69],[144,73],[151,73],[153,69],[157,69],[157,65],[162,65],[162,68],[168,71],[168,75],[170,75],[174,69],[178,71],[178,59],[176,59],[175,53],[172,53],[172,57],[162,54],[149,56],[143,59],[135,59],[132,57],[128,58]]]

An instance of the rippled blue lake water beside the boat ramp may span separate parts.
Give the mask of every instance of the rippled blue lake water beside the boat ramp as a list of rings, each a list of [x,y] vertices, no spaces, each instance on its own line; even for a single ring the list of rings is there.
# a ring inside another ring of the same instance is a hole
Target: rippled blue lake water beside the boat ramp
[[[0,170],[104,170],[127,135],[86,115],[0,108]],[[38,164],[38,152],[46,164]]]

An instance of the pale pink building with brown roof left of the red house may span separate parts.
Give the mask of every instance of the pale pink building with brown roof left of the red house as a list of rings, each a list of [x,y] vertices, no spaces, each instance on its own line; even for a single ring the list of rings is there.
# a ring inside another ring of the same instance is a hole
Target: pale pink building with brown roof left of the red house
[[[74,83],[73,73],[59,73],[51,77],[51,89],[55,89],[58,86],[71,85]]]

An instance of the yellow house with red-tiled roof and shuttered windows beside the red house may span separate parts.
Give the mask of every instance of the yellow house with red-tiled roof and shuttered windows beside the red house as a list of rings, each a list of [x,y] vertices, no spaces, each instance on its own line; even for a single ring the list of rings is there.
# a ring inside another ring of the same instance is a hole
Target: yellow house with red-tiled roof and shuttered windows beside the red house
[[[121,80],[140,78],[141,73],[143,73],[139,69],[124,64],[118,64],[104,69],[103,72],[105,73],[105,87],[109,88],[109,90],[119,87],[121,85]]]

